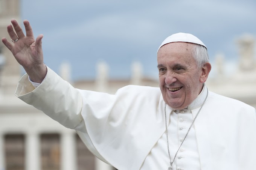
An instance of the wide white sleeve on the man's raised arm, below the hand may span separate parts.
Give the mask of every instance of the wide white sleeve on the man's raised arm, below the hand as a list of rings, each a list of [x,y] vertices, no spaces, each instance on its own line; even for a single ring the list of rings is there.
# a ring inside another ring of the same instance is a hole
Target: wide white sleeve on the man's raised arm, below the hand
[[[15,95],[67,128],[76,129],[82,121],[82,96],[79,90],[48,67],[44,81],[37,88],[25,74],[18,83]]]

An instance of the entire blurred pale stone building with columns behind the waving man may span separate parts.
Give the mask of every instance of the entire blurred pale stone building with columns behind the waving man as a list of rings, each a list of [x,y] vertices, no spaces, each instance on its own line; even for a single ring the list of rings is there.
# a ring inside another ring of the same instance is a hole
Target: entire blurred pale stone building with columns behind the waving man
[[[0,0],[0,37],[8,37],[11,18],[20,18],[19,0]],[[232,75],[224,72],[225,61],[216,56],[217,72],[207,80],[209,90],[238,99],[256,108],[256,60],[254,39],[242,36],[237,42],[239,65]],[[158,81],[143,76],[140,63],[131,66],[129,80],[108,77],[107,63],[98,63],[95,80],[71,82],[69,63],[59,74],[79,89],[115,93],[128,84],[158,87]],[[114,170],[95,158],[75,131],[64,128],[41,111],[14,96],[21,77],[20,66],[0,43],[0,170]]]

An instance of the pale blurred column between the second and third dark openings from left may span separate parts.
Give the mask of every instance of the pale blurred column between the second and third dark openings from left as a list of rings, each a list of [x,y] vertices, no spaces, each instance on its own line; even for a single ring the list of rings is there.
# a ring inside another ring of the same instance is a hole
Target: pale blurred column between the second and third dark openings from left
[[[61,134],[61,170],[77,170],[75,137],[73,130]]]

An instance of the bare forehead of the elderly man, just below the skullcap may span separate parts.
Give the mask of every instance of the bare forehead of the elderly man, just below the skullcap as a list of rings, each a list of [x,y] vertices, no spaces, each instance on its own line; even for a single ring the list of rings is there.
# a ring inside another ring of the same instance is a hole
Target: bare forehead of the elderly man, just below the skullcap
[[[192,60],[195,44],[189,42],[171,42],[163,45],[157,53],[157,60]]]

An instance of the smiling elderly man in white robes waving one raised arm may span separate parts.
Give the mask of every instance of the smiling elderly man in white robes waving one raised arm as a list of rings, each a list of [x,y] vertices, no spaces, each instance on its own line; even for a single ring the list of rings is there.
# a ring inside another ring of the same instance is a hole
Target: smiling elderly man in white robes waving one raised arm
[[[191,34],[163,41],[157,53],[160,89],[126,86],[115,95],[73,88],[44,65],[41,40],[12,20],[12,43],[24,67],[16,95],[67,128],[119,170],[256,168],[256,111],[208,91],[206,46]],[[240,90],[240,89],[239,89]]]

